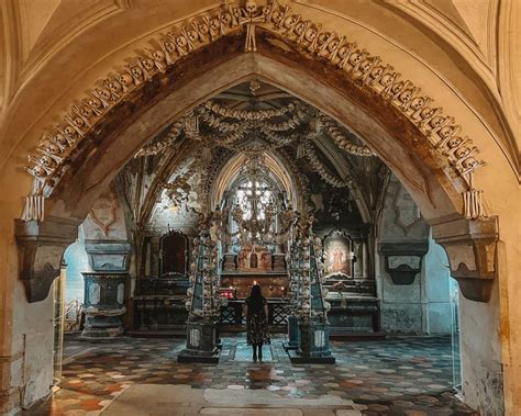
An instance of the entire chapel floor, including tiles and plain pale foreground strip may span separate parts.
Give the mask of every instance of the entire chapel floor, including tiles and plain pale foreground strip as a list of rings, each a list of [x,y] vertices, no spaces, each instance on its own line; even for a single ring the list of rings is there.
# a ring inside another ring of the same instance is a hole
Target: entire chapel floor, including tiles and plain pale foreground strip
[[[181,339],[66,340],[63,380],[24,415],[473,415],[452,390],[444,337],[333,341],[336,364],[292,366],[281,338],[250,360],[223,338],[219,364],[177,363]]]

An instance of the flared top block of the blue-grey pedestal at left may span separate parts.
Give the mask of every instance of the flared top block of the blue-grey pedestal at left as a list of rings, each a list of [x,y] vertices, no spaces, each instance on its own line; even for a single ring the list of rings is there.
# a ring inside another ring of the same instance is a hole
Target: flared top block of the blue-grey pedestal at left
[[[129,241],[88,239],[85,241],[85,250],[93,271],[124,272],[129,270],[132,250]]]

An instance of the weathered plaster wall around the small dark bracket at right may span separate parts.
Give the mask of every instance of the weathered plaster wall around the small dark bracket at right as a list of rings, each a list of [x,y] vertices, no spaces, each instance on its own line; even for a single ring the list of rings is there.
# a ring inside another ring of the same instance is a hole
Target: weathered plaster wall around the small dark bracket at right
[[[389,333],[451,333],[448,259],[430,236],[430,227],[396,177],[391,177],[384,201],[379,243],[428,243],[421,272],[412,284],[395,284],[380,257],[376,270],[381,308],[381,328]]]

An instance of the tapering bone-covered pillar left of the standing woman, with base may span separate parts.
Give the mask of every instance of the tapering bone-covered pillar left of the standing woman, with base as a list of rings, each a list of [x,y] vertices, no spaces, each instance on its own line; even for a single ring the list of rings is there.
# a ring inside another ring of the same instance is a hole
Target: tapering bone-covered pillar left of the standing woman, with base
[[[211,238],[210,221],[201,221],[199,237],[193,240],[193,263],[188,289],[187,348],[177,356],[179,362],[219,362],[217,324],[221,299],[219,293],[218,245]]]

